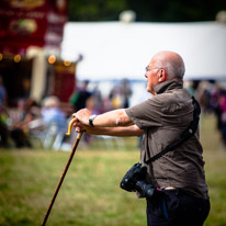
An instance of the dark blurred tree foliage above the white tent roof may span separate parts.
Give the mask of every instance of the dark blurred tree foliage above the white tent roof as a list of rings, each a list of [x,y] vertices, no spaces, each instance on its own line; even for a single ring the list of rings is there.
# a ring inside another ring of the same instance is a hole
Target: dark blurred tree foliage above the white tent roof
[[[136,21],[214,21],[226,10],[222,0],[69,0],[69,21],[117,21],[124,10],[136,12]]]

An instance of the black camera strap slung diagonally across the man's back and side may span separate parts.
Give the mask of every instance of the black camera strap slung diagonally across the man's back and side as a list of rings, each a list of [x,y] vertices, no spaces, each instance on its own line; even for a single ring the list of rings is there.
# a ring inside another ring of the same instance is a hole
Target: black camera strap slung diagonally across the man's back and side
[[[193,121],[190,123],[190,125],[187,127],[187,129],[182,133],[180,139],[176,140],[173,144],[170,144],[169,146],[167,146],[167,148],[165,148],[163,150],[161,150],[160,152],[158,152],[154,157],[149,158],[147,161],[145,161],[145,163],[150,163],[151,161],[155,161],[156,159],[162,157],[167,152],[174,150],[177,147],[182,145],[182,143],[184,143],[191,136],[193,136],[195,134],[195,132],[197,129],[199,121],[200,121],[201,108],[200,108],[200,104],[195,100],[194,97],[192,97],[192,102],[194,105]],[[147,150],[149,151],[148,143],[147,143]]]

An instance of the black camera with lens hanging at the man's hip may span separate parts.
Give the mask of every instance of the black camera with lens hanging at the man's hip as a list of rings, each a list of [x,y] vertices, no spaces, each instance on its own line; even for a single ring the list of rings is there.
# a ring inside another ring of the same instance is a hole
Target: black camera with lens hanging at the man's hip
[[[145,163],[135,163],[121,181],[121,188],[128,192],[138,192],[142,196],[151,199],[155,188],[147,183],[147,166]]]

